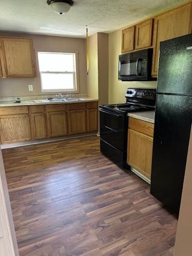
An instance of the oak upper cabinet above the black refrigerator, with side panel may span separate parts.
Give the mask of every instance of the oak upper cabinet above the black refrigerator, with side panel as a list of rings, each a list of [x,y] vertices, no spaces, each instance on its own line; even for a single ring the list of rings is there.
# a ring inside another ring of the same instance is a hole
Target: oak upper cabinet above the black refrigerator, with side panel
[[[158,71],[158,54],[160,42],[191,33],[191,4],[181,6],[155,18],[154,55],[152,75]]]

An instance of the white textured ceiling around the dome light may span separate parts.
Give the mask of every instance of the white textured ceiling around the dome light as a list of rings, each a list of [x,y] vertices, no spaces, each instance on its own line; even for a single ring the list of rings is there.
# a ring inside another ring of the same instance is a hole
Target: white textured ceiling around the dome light
[[[85,37],[109,33],[185,0],[74,0],[67,14],[54,13],[46,0],[0,0],[0,30]]]

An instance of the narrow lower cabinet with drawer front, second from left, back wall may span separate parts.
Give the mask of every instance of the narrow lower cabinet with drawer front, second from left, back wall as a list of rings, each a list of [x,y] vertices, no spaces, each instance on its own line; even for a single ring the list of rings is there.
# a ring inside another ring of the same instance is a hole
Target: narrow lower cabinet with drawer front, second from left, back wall
[[[44,106],[30,106],[29,113],[32,139],[45,139],[47,131]]]

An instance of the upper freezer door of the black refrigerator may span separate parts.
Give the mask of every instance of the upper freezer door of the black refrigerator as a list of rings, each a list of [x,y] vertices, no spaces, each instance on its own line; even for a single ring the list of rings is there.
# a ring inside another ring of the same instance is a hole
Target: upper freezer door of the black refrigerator
[[[192,34],[160,44],[157,93],[192,95]]]

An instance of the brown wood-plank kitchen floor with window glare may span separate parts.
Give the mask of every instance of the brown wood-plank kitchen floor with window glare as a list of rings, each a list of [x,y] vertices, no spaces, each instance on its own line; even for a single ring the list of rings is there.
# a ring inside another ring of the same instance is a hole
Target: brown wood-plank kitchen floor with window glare
[[[171,256],[177,218],[96,136],[3,150],[20,256]]]

